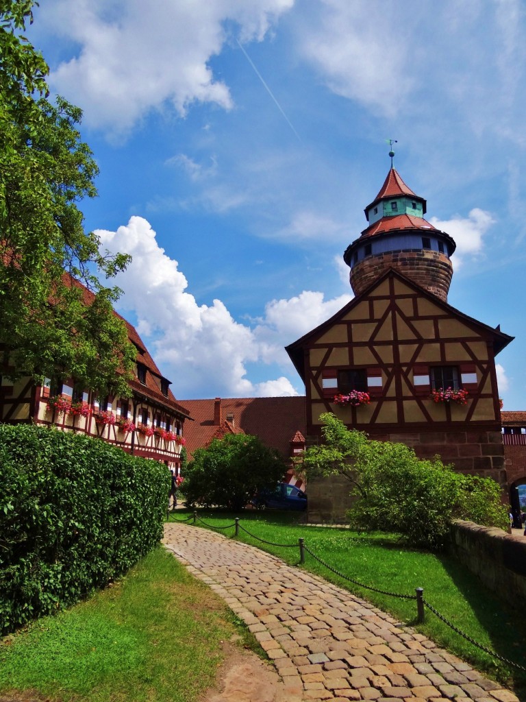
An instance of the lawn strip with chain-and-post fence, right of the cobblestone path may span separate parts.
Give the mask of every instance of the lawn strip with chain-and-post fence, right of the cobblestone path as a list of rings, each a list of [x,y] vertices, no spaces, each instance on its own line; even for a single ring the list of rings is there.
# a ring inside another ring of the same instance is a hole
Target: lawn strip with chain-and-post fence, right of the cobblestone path
[[[183,519],[190,513],[181,510],[175,517]],[[208,524],[225,526],[232,524],[236,515],[199,511],[198,516]],[[175,517],[170,515],[170,521]],[[393,534],[356,534],[348,529],[311,527],[300,524],[300,519],[304,519],[303,515],[247,510],[241,515],[240,524],[255,536],[274,543],[298,543],[298,538],[303,537],[305,545],[323,561],[365,585],[404,595],[414,595],[415,588],[424,588],[424,599],[464,633],[526,668],[523,643],[526,616],[519,609],[520,603],[517,609],[506,607],[453,558],[402,547]],[[234,528],[222,533],[234,536]],[[239,538],[290,564],[299,565],[299,549],[265,545],[241,529]],[[308,553],[302,567],[391,612],[474,667],[526,693],[526,673],[473,646],[429,609],[426,609],[424,624],[417,625],[416,602],[353,585],[332,574]]]

